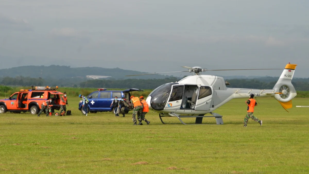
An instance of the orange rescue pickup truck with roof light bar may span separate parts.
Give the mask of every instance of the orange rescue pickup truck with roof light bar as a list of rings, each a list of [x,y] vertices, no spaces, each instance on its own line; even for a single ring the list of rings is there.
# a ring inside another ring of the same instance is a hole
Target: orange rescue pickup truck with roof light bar
[[[30,111],[31,114],[36,115],[39,113],[42,103],[49,98],[52,98],[51,111],[60,110],[60,95],[63,93],[58,92],[57,89],[58,86],[56,88],[49,86],[34,88],[32,86],[32,89],[21,89],[9,98],[0,99],[0,114],[7,111],[15,113]]]

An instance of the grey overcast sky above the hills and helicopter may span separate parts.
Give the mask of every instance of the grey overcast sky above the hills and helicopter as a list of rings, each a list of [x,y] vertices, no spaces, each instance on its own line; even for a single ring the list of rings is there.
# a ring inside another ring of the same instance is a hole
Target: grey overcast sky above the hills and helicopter
[[[1,0],[0,68],[64,64],[168,72],[290,62],[298,64],[295,77],[309,77],[308,9],[308,0]]]

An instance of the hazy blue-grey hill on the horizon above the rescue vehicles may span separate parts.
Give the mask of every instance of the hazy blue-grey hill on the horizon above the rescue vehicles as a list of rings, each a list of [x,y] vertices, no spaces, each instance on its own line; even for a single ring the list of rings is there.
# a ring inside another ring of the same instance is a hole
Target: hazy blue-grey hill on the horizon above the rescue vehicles
[[[85,78],[87,75],[94,76],[111,76],[108,79],[149,79],[149,78],[157,78],[163,79],[166,77],[170,77],[168,75],[147,75],[147,76],[129,76],[126,75],[134,75],[134,74],[146,74],[149,72],[139,72],[132,70],[124,70],[120,68],[101,68],[101,67],[77,67],[71,68],[70,66],[59,66],[59,65],[51,65],[51,66],[20,66],[13,67],[7,69],[0,69],[1,77],[16,77],[16,76],[24,76],[24,77],[32,77],[32,78],[74,78],[74,77],[82,77]]]

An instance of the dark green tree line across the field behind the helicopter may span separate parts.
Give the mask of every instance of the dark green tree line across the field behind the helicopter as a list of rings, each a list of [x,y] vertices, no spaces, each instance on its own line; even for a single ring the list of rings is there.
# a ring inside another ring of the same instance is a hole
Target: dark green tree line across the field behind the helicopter
[[[138,88],[138,89],[155,89],[160,85],[169,82],[179,81],[178,77],[167,77],[165,79],[124,79],[124,80],[87,80],[80,79],[43,79],[31,77],[4,77],[0,85],[6,86],[59,86],[74,88]],[[272,77],[267,79],[227,79],[230,83],[227,87],[231,88],[249,88],[249,89],[272,89],[278,78]],[[292,84],[297,91],[309,91],[309,80],[293,79]]]

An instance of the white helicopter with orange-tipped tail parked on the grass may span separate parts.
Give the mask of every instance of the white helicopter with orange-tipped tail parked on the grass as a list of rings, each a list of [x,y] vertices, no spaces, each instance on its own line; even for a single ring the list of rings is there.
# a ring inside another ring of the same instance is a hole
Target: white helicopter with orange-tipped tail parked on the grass
[[[231,70],[270,70],[270,69],[221,69],[207,70],[201,67],[187,67],[187,71],[194,75],[186,76],[178,82],[163,84],[154,89],[146,98],[149,110],[159,113],[159,118],[163,124],[162,117],[177,117],[182,124],[181,118],[196,118],[195,124],[202,124],[203,117],[215,117],[216,124],[223,124],[222,115],[214,113],[216,109],[234,98],[254,97],[274,97],[281,106],[287,109],[292,107],[292,99],[297,95],[291,81],[293,79],[296,64],[286,64],[281,76],[273,89],[245,89],[228,88],[230,85],[223,77],[213,75],[202,75],[207,71],[231,71]],[[273,69],[272,69],[273,70]],[[282,69],[281,69],[282,70]],[[139,76],[173,72],[159,72],[148,74],[137,74],[127,76]],[[289,111],[288,111],[289,112]],[[210,113],[210,116],[205,116]]]

